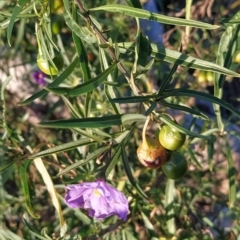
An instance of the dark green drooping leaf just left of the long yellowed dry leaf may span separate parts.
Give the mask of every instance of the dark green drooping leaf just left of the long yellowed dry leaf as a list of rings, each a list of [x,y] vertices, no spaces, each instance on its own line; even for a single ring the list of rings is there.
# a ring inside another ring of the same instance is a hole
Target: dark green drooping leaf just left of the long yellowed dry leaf
[[[31,203],[31,196],[29,192],[29,187],[28,187],[28,180],[27,180],[27,172],[28,168],[31,164],[32,160],[26,159],[22,162],[20,166],[20,179],[21,179],[21,184],[24,192],[24,197],[25,197],[25,203],[26,203],[26,208],[28,210],[28,213],[31,215],[33,218],[40,218],[39,215],[34,213],[32,203]]]

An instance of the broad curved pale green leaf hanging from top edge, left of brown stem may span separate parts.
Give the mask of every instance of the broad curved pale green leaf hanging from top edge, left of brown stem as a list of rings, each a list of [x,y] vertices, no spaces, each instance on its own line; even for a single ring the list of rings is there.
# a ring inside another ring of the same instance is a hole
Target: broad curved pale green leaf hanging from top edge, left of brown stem
[[[64,6],[68,6],[68,0],[63,0]],[[96,36],[87,27],[80,27],[72,18],[70,10],[65,7],[63,16],[68,27],[83,41],[88,43],[95,43],[97,41]]]

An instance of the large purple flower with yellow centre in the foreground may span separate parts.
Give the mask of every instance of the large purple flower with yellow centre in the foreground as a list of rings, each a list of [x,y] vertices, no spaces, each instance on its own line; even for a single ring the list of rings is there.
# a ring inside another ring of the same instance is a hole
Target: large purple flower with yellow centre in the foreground
[[[126,197],[102,180],[67,186],[66,204],[88,210],[90,217],[102,220],[117,215],[124,221],[129,212]]]

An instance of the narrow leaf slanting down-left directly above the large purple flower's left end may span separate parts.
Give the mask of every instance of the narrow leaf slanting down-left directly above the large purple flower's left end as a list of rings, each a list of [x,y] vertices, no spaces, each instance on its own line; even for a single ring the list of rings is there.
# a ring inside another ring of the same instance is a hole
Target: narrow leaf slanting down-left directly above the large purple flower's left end
[[[83,166],[83,165],[87,164],[88,162],[90,162],[91,160],[100,157],[104,152],[108,151],[110,149],[110,147],[111,146],[108,145],[108,146],[101,147],[101,148],[95,150],[94,152],[88,154],[85,159],[79,160],[79,161],[73,163],[72,165],[66,167],[57,176],[61,176],[63,174],[66,174],[66,173],[70,172],[71,170],[73,170],[73,169],[75,169],[77,167]]]

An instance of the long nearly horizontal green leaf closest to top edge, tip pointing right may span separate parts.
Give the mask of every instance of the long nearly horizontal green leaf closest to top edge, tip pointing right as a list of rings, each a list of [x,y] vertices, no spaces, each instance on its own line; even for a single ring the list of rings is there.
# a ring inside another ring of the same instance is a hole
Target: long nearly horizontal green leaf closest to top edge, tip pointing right
[[[137,9],[127,5],[120,4],[108,4],[96,8],[89,9],[90,13],[94,11],[108,11],[108,12],[119,12],[131,17],[137,17],[142,19],[148,19],[160,23],[171,24],[175,26],[192,26],[199,27],[203,29],[216,29],[219,28],[217,25],[211,25],[208,23],[198,22],[194,20],[187,20],[175,17],[164,16],[157,13],[152,13],[147,10]]]

